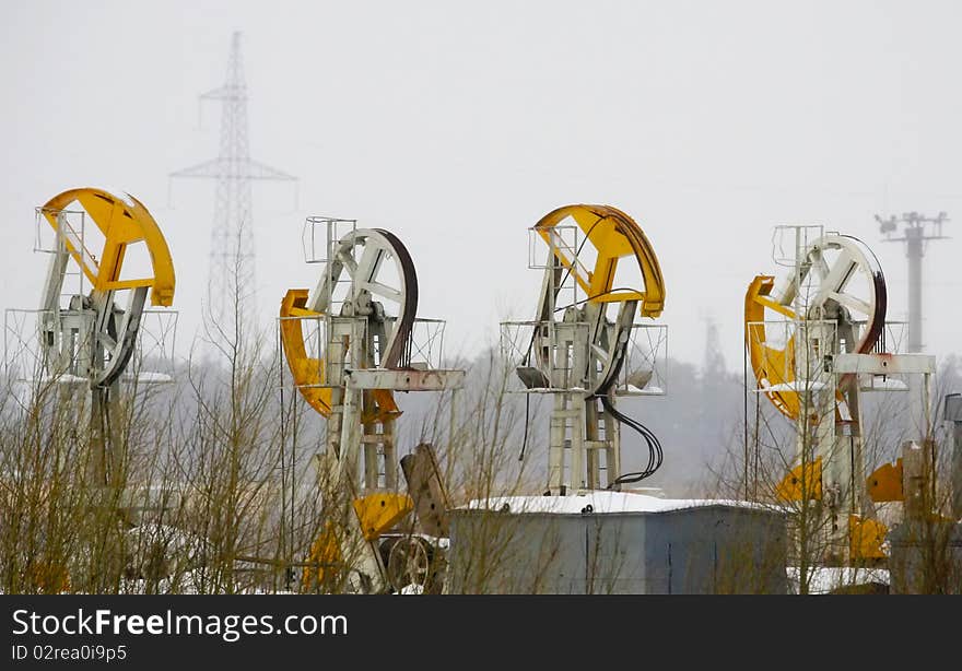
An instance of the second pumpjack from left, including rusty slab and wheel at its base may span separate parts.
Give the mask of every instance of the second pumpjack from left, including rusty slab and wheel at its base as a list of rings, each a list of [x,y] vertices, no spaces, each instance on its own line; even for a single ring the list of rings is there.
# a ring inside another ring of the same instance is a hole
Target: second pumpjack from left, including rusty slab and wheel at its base
[[[465,372],[433,367],[430,351],[415,342],[414,327],[424,320],[417,318],[418,276],[407,248],[388,231],[355,224],[308,217],[312,240],[314,226],[327,227],[325,270],[314,292],[288,291],[279,327],[294,386],[327,420],[326,449],[316,460],[327,522],[310,550],[321,566],[305,570],[304,582],[380,592],[401,589],[408,578],[425,586],[434,550],[423,539],[403,538],[399,525],[417,507],[418,520],[438,529],[436,506],[445,505],[422,491],[441,488],[438,478],[429,482],[437,470],[425,445],[404,469],[406,479],[414,475],[412,496],[399,493],[396,392],[450,391],[453,436],[454,392]],[[425,501],[426,509],[419,505]]]

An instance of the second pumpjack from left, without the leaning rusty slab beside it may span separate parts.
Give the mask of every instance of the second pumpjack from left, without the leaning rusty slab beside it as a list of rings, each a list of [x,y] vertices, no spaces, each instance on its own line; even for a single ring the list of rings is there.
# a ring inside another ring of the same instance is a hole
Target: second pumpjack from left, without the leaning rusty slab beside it
[[[315,254],[317,226],[326,227],[324,258]],[[310,251],[305,243],[307,262],[325,263],[325,272],[313,295],[288,292],[279,328],[294,388],[327,419],[326,447],[316,460],[321,491],[335,499],[329,517],[338,520],[340,530],[336,534],[331,527],[321,534],[313,554],[349,565],[344,573],[353,591],[380,592],[396,587],[384,563],[382,538],[414,509],[414,502],[398,493],[396,421],[401,411],[394,393],[450,391],[454,425],[465,372],[411,361],[412,352],[421,351],[411,342],[418,322],[417,278],[397,238],[379,229],[359,229],[355,220],[314,216],[307,219],[302,239],[310,240]],[[364,251],[354,259],[348,249],[362,239]],[[377,278],[389,256],[400,257],[395,259],[399,274],[407,275],[400,290]],[[342,272],[349,278],[342,279]],[[400,301],[401,314],[387,315],[376,297]],[[318,357],[309,356],[304,346],[305,320],[314,323]],[[439,362],[441,352],[436,354]]]

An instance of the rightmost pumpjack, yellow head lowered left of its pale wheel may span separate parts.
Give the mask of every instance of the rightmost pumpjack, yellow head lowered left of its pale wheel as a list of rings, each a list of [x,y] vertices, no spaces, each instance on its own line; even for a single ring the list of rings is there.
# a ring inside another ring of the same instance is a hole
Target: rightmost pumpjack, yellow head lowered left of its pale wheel
[[[935,357],[879,351],[888,291],[867,246],[821,226],[778,226],[775,239],[786,234],[794,237],[795,260],[779,259],[777,245],[776,262],[790,262],[790,273],[777,284],[773,275],[756,275],[746,295],[758,391],[797,426],[796,466],[776,494],[800,505],[816,502],[817,535],[801,542],[812,546],[818,538],[820,561],[884,561],[887,529],[873,504],[903,501],[902,466],[866,473],[861,393],[900,388],[885,384],[889,376],[920,378],[908,402],[912,416],[919,417],[912,428],[919,431],[919,444],[931,445]],[[778,318],[765,320],[766,310]]]

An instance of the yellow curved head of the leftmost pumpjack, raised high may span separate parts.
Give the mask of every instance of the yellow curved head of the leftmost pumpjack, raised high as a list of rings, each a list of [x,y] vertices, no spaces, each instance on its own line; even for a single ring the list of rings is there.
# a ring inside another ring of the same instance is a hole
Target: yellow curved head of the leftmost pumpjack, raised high
[[[43,207],[44,217],[55,231],[60,223],[57,214],[79,202],[104,235],[99,250],[84,249],[87,242],[81,231],[64,231],[67,250],[90,280],[94,291],[108,292],[138,286],[151,287],[151,304],[169,307],[174,303],[174,261],[167,240],[157,222],[142,202],[128,193],[110,193],[85,187],[63,191]],[[121,280],[124,255],[129,245],[146,245],[153,275]]]

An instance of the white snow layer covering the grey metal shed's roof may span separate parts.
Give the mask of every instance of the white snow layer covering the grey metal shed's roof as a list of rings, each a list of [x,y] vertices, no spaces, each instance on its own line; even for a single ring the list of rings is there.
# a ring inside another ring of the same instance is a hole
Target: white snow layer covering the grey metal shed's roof
[[[507,506],[507,509],[504,509]],[[586,510],[591,506],[590,510]],[[633,492],[591,491],[567,496],[496,496],[476,498],[460,510],[504,510],[543,515],[582,515],[583,513],[667,513],[708,506],[781,510],[776,506],[727,498],[660,498]]]

